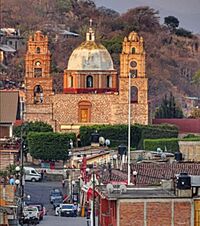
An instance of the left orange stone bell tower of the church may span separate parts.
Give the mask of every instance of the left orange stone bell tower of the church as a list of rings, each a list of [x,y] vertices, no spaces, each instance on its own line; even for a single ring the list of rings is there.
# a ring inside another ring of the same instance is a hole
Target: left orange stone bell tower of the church
[[[41,31],[35,32],[28,40],[25,56],[25,89],[25,120],[48,121],[48,115],[51,114],[53,82],[50,75],[48,37]]]

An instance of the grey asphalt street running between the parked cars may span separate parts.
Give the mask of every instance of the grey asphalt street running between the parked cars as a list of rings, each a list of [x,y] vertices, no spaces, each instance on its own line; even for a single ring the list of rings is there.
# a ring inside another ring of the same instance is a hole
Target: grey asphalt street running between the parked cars
[[[59,182],[26,182],[25,183],[25,195],[30,195],[32,202],[41,202],[47,210],[47,215],[43,221],[40,221],[40,225],[43,226],[86,226],[86,218],[82,217],[59,217],[55,216],[55,212],[49,201],[49,193],[52,188],[60,188],[63,194],[66,193],[65,189],[62,189]]]

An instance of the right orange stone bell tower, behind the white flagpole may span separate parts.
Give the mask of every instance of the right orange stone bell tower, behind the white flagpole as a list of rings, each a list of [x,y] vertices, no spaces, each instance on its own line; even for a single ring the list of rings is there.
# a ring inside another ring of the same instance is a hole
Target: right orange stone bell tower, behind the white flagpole
[[[145,72],[144,41],[136,32],[131,32],[124,38],[120,55],[119,93],[121,102],[124,106],[127,105],[126,109],[129,91],[131,123],[148,124],[148,79]]]

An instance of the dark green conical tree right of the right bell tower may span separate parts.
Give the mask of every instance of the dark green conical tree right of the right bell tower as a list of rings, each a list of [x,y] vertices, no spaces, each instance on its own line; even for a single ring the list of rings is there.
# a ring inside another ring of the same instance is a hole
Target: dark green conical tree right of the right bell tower
[[[177,106],[172,93],[170,93],[169,98],[165,95],[160,107],[155,113],[155,118],[183,118],[183,112]]]

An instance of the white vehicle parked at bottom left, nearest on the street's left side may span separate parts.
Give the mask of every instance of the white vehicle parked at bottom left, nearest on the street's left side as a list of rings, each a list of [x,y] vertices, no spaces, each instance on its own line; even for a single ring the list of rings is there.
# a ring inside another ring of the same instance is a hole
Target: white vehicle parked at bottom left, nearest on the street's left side
[[[24,224],[39,224],[40,222],[40,213],[36,206],[25,206],[23,209],[23,215]]]

